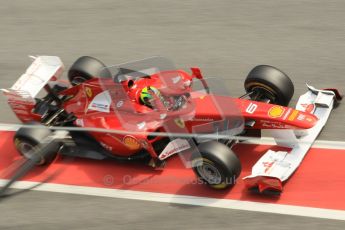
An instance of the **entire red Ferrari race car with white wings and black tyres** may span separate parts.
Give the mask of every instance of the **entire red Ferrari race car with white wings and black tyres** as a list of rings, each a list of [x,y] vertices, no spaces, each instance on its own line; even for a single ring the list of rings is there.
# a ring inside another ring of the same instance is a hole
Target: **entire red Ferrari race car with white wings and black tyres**
[[[70,67],[68,82],[60,79],[59,57],[33,58],[2,90],[24,123],[14,137],[24,158],[43,165],[62,154],[163,168],[178,154],[216,189],[232,186],[241,173],[232,147],[268,129],[277,145],[291,150],[269,150],[243,179],[248,188],[280,193],[342,98],[336,89],[308,86],[296,108],[287,107],[293,83],[268,65],[252,69],[246,93],[233,98],[213,90],[209,83],[217,79],[204,78],[199,68],[190,74],[161,57],[109,67],[83,56]]]

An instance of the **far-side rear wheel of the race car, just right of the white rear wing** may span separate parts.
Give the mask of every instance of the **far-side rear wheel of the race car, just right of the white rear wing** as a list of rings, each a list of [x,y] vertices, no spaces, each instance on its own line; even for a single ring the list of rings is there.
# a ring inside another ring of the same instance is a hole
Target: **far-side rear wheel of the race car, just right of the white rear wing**
[[[111,73],[100,60],[83,56],[78,58],[68,71],[68,79],[72,85],[79,85],[94,77],[111,78]]]

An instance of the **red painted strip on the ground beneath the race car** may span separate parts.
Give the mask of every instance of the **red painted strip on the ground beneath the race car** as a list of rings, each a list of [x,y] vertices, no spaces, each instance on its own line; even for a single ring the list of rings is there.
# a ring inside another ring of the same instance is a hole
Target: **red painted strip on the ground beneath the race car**
[[[6,179],[6,168],[20,157],[13,146],[13,132],[0,132],[0,137],[0,177]],[[234,149],[243,164],[241,178],[269,148],[272,146],[239,145]],[[59,157],[49,167],[35,168],[24,180],[43,181],[60,171],[49,183],[345,210],[344,163],[345,150],[311,149],[279,198],[251,194],[241,179],[230,190],[217,191],[196,184],[194,173],[184,168],[179,157],[170,159],[163,171],[140,163]]]

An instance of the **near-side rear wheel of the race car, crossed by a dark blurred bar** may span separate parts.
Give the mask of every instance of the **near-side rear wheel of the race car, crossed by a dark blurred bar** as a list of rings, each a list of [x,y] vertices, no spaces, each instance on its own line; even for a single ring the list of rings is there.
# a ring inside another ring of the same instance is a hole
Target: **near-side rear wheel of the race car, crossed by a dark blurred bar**
[[[52,134],[52,131],[42,126],[42,128],[20,128],[14,136],[14,144],[18,152],[26,159],[34,159],[37,157],[38,147],[41,141]],[[44,154],[40,154],[37,165],[44,165],[52,162],[57,152],[59,151],[60,145],[58,143],[49,145],[49,149],[46,149]]]

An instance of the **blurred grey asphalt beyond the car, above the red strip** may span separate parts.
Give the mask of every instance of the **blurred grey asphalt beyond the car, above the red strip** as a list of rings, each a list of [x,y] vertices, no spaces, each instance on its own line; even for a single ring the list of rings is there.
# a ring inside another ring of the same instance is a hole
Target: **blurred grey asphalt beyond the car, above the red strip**
[[[295,83],[345,90],[343,1],[6,1],[0,5],[0,87],[30,64],[27,55],[60,56],[68,68],[91,55],[107,65],[161,55],[178,68],[201,67],[228,79],[233,96],[258,64],[276,66]],[[6,107],[4,99],[1,106]],[[292,102],[292,103],[293,103]],[[321,139],[335,133],[345,109]],[[13,119],[11,112],[1,120]]]

